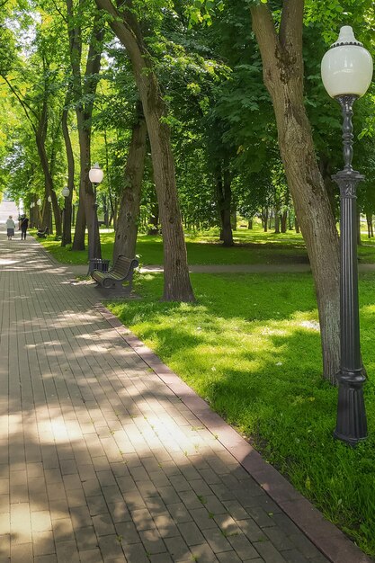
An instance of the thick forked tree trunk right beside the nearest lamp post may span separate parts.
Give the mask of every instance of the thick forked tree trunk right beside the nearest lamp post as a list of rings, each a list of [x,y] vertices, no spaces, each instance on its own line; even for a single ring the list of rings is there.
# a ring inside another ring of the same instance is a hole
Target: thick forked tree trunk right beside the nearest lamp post
[[[283,2],[279,33],[268,6],[257,4],[251,13],[281,158],[314,276],[324,377],[334,382],[340,352],[339,244],[303,103],[303,6],[302,0]]]

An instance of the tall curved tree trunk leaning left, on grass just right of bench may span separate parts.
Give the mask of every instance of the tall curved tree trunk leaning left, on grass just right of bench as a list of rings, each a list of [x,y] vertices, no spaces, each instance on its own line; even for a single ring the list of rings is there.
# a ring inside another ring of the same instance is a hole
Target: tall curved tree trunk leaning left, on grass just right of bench
[[[189,278],[183,224],[175,185],[170,130],[165,122],[165,103],[152,67],[152,59],[147,52],[131,2],[125,6],[122,4],[120,12],[111,0],[95,1],[99,8],[112,15],[109,23],[127,50],[142,101],[163,232],[163,298],[168,301],[193,301],[195,299]]]

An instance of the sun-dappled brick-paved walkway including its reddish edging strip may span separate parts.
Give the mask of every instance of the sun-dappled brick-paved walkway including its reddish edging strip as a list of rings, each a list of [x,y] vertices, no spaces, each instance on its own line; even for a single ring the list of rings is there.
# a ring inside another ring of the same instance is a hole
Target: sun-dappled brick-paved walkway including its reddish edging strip
[[[0,230],[1,563],[368,560],[94,287]]]

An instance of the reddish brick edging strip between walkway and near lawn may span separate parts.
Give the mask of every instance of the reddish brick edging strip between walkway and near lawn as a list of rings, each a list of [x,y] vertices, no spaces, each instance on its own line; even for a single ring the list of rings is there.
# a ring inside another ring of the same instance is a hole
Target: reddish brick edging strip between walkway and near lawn
[[[102,303],[96,304],[95,308],[138,356],[155,371],[165,385],[183,401],[183,404],[191,409],[202,424],[211,433],[218,436],[219,442],[227,448],[327,559],[333,563],[373,562],[373,559],[362,553],[353,541],[350,541],[333,523],[328,522],[323,514],[292,487],[290,482],[283,478],[272,465],[264,461],[261,455],[234,428],[214,413],[206,401],[200,398],[174,371],[170,370],[136,335],[123,326],[108,308],[105,308]]]

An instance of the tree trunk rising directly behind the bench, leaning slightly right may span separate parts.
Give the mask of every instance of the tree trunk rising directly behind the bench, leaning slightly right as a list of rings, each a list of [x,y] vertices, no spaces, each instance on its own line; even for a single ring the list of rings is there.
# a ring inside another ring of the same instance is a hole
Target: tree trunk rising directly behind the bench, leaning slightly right
[[[113,246],[113,262],[118,255],[136,254],[140,192],[146,156],[147,126],[143,115],[134,124],[124,174],[119,219]]]

